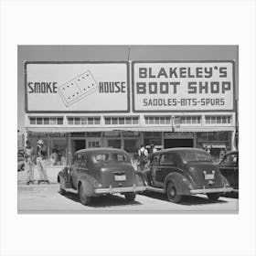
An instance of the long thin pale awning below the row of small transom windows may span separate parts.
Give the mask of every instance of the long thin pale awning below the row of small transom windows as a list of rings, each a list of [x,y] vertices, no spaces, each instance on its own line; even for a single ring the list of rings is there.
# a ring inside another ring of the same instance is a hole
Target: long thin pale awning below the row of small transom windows
[[[225,132],[235,131],[233,126],[206,127],[206,126],[187,126],[179,127],[173,130],[172,126],[126,126],[126,127],[27,127],[28,133],[86,133],[86,132],[112,132],[112,131],[127,131],[127,132]]]

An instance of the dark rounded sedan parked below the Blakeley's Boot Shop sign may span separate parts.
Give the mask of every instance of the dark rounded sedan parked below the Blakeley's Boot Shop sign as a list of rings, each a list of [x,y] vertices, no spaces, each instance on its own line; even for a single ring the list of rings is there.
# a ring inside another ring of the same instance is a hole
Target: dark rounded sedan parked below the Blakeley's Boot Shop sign
[[[232,190],[211,156],[196,148],[156,152],[141,176],[144,176],[147,190],[166,193],[174,203],[180,202],[185,195],[195,194],[207,194],[209,199],[218,200],[222,193]]]

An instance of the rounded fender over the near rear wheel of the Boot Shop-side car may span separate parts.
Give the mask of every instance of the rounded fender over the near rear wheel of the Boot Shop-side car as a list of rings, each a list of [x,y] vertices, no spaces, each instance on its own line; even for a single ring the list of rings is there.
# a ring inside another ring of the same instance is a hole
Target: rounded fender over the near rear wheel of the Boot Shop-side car
[[[173,172],[165,177],[165,182],[164,182],[165,192],[166,192],[167,185],[170,181],[175,184],[176,190],[177,190],[176,193],[178,195],[190,195],[190,190],[194,188],[186,176]]]

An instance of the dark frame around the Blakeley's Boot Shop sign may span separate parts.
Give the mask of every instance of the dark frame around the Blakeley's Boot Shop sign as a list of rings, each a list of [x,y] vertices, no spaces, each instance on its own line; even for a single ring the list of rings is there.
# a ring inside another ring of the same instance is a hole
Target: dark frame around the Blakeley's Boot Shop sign
[[[135,110],[135,93],[134,93],[134,65],[137,63],[231,63],[232,64],[232,81],[233,81],[233,108],[231,110]],[[235,112],[236,110],[236,76],[235,76],[235,65],[236,61],[234,59],[219,59],[219,60],[134,60],[132,61],[132,112]]]

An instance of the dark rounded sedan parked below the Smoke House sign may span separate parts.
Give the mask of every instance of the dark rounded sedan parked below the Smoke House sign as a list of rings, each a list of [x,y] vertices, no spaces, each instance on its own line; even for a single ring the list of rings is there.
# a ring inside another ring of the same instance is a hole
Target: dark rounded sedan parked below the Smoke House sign
[[[133,202],[136,192],[144,191],[144,181],[135,174],[130,156],[120,149],[82,149],[73,164],[59,172],[60,193],[76,192],[88,205],[91,197],[121,193]]]

